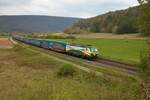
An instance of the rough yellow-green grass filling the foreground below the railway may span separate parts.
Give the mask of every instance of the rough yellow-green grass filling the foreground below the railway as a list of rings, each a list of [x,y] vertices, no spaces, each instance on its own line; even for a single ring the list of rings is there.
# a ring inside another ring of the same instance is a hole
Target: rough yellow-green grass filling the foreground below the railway
[[[65,65],[25,47],[0,50],[0,100],[142,100],[139,83],[104,79],[78,69],[58,77]]]

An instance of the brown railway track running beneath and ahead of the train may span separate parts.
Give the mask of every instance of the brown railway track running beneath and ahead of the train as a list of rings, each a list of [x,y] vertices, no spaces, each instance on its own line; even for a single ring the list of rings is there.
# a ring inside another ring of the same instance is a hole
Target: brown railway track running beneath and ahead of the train
[[[39,48],[39,47],[37,47],[37,48]],[[43,48],[41,48],[41,49],[43,49]],[[94,64],[94,65],[97,65],[99,67],[121,69],[124,72],[126,72],[128,74],[132,74],[132,75],[136,74],[137,71],[138,71],[137,66],[133,65],[133,64],[127,64],[127,63],[114,61],[114,60],[110,60],[110,59],[106,59],[106,58],[100,58],[100,57],[98,59],[96,59],[96,60],[88,60],[88,59],[83,59],[83,58],[71,56],[71,55],[68,55],[68,54],[63,54],[63,53],[58,53],[58,52],[55,52],[55,51],[50,51],[50,50],[47,50],[47,49],[45,49],[45,50],[48,51],[49,53],[51,52],[53,54],[63,55],[63,56],[68,57],[70,59],[74,59],[76,61],[85,62],[85,63],[88,63],[88,64]]]

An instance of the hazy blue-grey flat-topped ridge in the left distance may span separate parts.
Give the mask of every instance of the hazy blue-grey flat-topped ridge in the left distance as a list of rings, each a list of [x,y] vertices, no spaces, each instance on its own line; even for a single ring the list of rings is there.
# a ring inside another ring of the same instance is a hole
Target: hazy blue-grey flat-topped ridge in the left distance
[[[60,32],[78,20],[54,16],[0,16],[0,32]]]

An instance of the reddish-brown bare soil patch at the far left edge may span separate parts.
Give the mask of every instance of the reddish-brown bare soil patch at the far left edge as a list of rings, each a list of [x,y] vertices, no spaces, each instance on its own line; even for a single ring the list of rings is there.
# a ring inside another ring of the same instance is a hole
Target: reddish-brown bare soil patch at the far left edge
[[[12,48],[13,43],[8,38],[0,38],[0,49]]]

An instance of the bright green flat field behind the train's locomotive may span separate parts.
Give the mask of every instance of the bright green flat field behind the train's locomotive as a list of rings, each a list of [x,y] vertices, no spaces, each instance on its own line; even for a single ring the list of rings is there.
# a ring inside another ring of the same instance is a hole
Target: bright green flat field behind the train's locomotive
[[[80,38],[75,40],[57,39],[68,43],[90,44],[98,48],[101,56],[122,60],[130,63],[139,63],[140,52],[147,48],[145,40],[139,39],[97,39]]]

